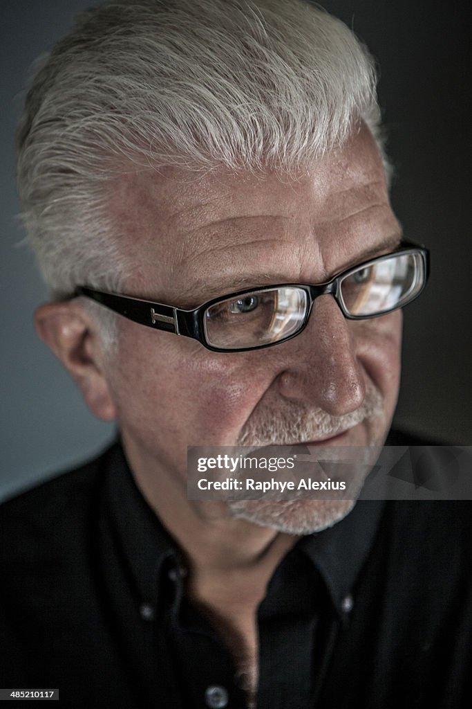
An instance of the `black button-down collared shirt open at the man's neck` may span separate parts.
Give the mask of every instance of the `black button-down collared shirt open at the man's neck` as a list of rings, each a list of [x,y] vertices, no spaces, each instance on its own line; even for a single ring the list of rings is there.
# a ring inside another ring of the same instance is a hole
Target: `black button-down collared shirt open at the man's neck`
[[[471,513],[359,501],[300,540],[258,611],[258,709],[471,706]],[[59,688],[67,708],[246,707],[119,445],[0,519],[0,686]]]

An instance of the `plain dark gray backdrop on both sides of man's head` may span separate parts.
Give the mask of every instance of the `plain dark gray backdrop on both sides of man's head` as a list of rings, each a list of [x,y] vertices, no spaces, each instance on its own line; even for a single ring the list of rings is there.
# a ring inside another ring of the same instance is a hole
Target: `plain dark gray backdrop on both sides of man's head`
[[[33,330],[47,298],[16,214],[13,133],[30,65],[88,0],[1,2],[1,479],[0,493],[33,484],[95,453],[113,426],[88,413],[74,384]],[[425,294],[405,311],[396,423],[471,444],[470,143],[466,3],[333,0],[381,67],[392,199],[411,240],[432,250]]]

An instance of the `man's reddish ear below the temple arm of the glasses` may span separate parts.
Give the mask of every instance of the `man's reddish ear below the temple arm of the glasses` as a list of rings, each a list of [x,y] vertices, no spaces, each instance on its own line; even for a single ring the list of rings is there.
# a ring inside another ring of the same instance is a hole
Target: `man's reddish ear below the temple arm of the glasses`
[[[114,420],[116,410],[95,320],[72,301],[45,303],[35,312],[35,326],[79,386],[91,412],[105,421]]]

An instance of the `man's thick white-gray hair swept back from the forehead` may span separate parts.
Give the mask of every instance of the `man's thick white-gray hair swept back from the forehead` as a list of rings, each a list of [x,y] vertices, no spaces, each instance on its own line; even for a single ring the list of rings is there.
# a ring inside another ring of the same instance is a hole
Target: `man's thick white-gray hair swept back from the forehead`
[[[52,294],[122,289],[132,263],[108,207],[120,172],[295,176],[360,121],[381,145],[375,86],[355,35],[301,0],[112,0],[83,13],[18,128],[23,219]]]

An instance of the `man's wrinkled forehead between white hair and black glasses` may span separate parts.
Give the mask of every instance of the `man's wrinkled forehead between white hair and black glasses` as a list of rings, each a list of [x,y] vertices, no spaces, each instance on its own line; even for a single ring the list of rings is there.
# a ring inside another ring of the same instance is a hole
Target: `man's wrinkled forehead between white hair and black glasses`
[[[246,286],[321,282],[398,242],[367,129],[296,180],[138,172],[113,186],[111,208],[132,260],[127,293],[181,306]]]

